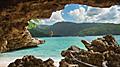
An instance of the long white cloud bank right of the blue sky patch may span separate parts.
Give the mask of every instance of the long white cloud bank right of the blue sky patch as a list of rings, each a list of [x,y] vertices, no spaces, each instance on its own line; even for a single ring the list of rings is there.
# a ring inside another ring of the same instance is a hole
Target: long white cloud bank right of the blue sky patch
[[[88,6],[88,10],[80,7],[69,12],[77,22],[120,23],[120,6],[98,8]]]

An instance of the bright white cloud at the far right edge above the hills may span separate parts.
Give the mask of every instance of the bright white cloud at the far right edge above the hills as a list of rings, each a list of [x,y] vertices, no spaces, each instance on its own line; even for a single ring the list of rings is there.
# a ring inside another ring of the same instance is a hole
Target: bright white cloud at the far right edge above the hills
[[[104,9],[104,12],[102,12],[100,15],[98,15],[96,18],[98,18],[97,21],[101,21],[102,23],[108,22],[108,23],[118,23],[118,19],[120,19],[119,15],[120,12],[117,10],[118,6],[112,6],[109,9]],[[105,12],[106,11],[106,12]]]

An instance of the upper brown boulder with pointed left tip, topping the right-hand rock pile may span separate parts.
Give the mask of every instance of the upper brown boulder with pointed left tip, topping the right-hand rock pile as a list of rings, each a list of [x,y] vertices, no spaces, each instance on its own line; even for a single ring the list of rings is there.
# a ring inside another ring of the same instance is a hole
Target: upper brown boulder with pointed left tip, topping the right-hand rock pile
[[[95,52],[104,52],[107,50],[116,50],[118,44],[112,35],[106,35],[103,38],[98,38],[93,40],[91,44],[87,44],[85,40],[81,41],[88,50],[93,50]]]

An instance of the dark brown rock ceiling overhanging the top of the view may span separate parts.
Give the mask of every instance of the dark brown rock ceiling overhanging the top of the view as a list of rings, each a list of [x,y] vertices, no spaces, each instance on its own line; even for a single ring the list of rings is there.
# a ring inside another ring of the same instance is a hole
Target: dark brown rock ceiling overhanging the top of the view
[[[85,4],[108,8],[119,5],[119,0],[0,0],[1,22],[26,22],[32,18],[49,18],[53,11],[61,10],[66,4]]]

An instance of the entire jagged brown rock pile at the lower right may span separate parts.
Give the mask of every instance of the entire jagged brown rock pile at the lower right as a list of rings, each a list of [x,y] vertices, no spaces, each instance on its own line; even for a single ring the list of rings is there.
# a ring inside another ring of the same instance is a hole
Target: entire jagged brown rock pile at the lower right
[[[60,67],[120,67],[120,47],[112,35],[93,40],[91,43],[82,40],[88,50],[71,46],[61,55],[65,57]]]

